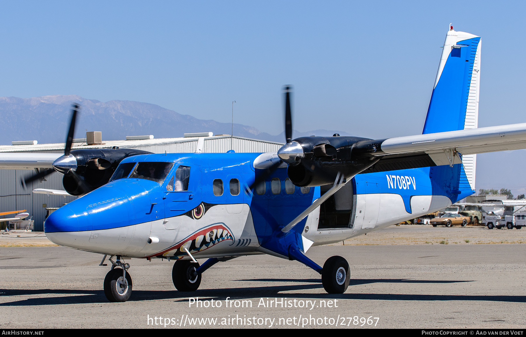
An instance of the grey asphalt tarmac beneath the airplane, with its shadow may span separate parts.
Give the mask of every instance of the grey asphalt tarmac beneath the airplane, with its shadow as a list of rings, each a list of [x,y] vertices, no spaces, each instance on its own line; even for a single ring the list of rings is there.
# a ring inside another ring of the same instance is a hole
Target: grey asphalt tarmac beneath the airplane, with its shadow
[[[349,262],[351,284],[338,295],[323,290],[315,271],[271,256],[220,262],[192,293],[174,288],[173,261],[132,259],[126,261],[130,300],[109,303],[102,285],[110,267],[98,266],[102,256],[63,247],[2,247],[0,326],[524,328],[525,253],[520,243],[311,248],[307,255],[319,264],[333,255]]]

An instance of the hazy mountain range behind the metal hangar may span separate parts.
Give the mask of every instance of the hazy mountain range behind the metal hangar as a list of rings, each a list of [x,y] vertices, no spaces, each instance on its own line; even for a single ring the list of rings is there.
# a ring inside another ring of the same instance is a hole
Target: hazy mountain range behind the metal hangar
[[[229,135],[231,132],[229,123],[197,119],[149,103],[129,100],[103,103],[76,95],[0,97],[0,116],[3,120],[0,144],[11,145],[13,140],[38,140],[39,144],[64,142],[70,119],[69,107],[73,102],[82,105],[81,114],[77,117],[75,138],[85,135],[83,129],[102,131],[103,140],[119,140],[137,135],[169,138],[183,137],[187,132],[212,131],[215,135]],[[294,130],[293,137],[332,136],[335,133],[349,135],[336,130]],[[284,132],[273,136],[241,124],[234,124],[234,136],[285,142]]]

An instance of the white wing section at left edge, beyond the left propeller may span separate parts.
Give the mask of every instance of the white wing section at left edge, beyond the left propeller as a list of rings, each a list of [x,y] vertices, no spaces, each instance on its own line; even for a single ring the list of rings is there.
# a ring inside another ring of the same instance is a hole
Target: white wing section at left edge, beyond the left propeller
[[[0,153],[0,169],[27,170],[53,168],[53,161],[64,154]]]

